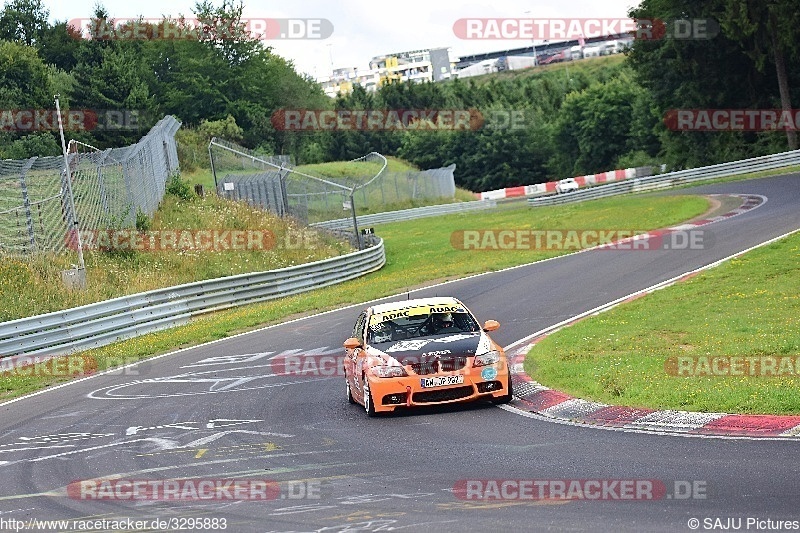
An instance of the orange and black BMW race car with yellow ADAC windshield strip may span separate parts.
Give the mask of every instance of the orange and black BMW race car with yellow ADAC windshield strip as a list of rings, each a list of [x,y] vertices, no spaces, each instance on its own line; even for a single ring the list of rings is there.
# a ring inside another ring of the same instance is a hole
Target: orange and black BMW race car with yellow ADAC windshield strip
[[[459,300],[420,298],[374,305],[344,342],[347,399],[370,416],[403,407],[473,400],[508,403],[503,349]]]

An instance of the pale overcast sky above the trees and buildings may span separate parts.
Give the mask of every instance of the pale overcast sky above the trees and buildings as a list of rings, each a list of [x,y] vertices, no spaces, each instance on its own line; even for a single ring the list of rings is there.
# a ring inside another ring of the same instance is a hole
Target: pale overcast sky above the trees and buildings
[[[99,0],[44,0],[50,21],[89,18]],[[194,0],[102,0],[116,19],[192,16]],[[221,5],[221,0],[213,2]],[[638,0],[294,0],[245,2],[245,17],[314,18],[333,24],[324,40],[271,40],[279,55],[290,59],[299,72],[324,76],[335,68],[366,69],[377,55],[449,47],[456,56],[530,46],[530,40],[463,40],[453,24],[463,18],[625,18]],[[272,4],[272,6],[270,6]]]

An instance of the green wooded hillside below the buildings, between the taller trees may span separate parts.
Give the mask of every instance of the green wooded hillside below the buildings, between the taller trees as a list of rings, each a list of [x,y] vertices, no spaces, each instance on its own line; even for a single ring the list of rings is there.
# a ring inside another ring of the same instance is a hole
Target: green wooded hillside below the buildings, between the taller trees
[[[478,109],[484,124],[474,131],[339,132],[329,135],[325,151],[345,159],[372,148],[425,168],[455,163],[472,190],[654,164],[659,117],[647,91],[618,58],[599,61],[542,75],[393,84],[376,95],[355,90],[336,107]]]

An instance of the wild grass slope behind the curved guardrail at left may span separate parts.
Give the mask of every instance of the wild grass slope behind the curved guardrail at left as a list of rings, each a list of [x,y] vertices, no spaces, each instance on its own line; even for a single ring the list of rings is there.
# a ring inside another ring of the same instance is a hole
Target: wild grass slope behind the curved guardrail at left
[[[70,267],[64,257],[5,259],[0,262],[0,322],[161,287],[308,263],[351,251],[348,244],[336,238],[215,195],[188,201],[167,195],[149,231],[158,234],[163,230],[211,230],[223,239],[225,230],[252,230],[252,235],[263,237],[263,248],[268,249],[261,249],[253,240],[252,246],[244,244],[245,249],[224,250],[220,245],[218,251],[179,246],[161,251],[87,251],[84,259],[88,287],[84,291],[63,285],[61,271]],[[274,236],[272,247],[270,236]],[[306,241],[313,247],[306,246]]]

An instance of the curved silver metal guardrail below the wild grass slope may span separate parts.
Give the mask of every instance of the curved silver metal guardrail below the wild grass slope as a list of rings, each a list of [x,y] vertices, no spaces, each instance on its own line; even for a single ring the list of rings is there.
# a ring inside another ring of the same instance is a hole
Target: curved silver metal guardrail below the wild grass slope
[[[193,316],[341,283],[386,263],[383,240],[304,265],[199,281],[0,323],[0,358],[67,355],[189,322]]]

